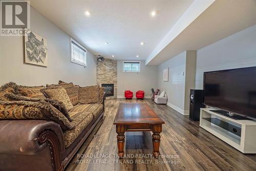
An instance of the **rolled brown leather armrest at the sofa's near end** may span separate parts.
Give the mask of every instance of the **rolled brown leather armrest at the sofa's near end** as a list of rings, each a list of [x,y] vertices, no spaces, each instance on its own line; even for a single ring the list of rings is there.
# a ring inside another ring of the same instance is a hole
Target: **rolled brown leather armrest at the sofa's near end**
[[[0,120],[0,154],[34,155],[46,146],[65,151],[59,124],[46,120]]]

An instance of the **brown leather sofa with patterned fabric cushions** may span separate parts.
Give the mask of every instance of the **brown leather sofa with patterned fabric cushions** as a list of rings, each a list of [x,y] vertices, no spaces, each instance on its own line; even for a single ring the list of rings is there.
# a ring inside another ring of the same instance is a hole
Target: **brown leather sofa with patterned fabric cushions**
[[[56,86],[72,88],[75,85],[59,82]],[[15,83],[8,83],[0,89],[0,170],[64,170],[95,126],[102,123],[104,91],[99,86],[76,87],[79,91],[75,93],[78,103],[69,111],[72,128],[64,129],[50,117],[34,119],[36,112],[47,115],[52,110],[56,110],[58,114],[61,112],[53,107],[55,103],[51,105],[45,98],[31,98],[31,94],[36,97],[42,95],[36,90],[38,87],[25,88],[28,96],[22,93],[23,88]],[[66,90],[68,93],[69,89]],[[72,99],[72,96],[69,98]],[[98,97],[95,99],[96,103],[89,102],[93,97]],[[41,104],[47,105],[47,110]],[[26,118],[25,112],[32,109],[32,118]],[[71,113],[75,114],[72,116]],[[9,114],[13,116],[8,116]]]

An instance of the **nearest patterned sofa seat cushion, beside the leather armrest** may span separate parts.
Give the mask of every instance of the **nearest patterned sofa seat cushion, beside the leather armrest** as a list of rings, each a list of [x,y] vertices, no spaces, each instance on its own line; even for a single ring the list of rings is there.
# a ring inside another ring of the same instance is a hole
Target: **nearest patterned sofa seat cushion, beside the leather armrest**
[[[75,139],[81,134],[81,132],[92,122],[93,115],[89,112],[76,112],[72,119],[74,120],[72,124],[76,125],[71,130],[66,130],[63,132],[63,139],[65,142],[65,147],[69,147]]]

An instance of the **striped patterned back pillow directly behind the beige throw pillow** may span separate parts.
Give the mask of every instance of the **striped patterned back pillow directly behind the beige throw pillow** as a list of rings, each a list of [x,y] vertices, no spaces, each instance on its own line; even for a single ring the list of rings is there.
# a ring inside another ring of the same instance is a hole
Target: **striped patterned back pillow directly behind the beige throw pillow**
[[[60,86],[66,89],[71,103],[74,106],[77,105],[78,104],[78,90],[79,90],[79,86],[78,85],[73,85],[73,83],[61,83],[61,84],[46,85],[47,88],[60,87]]]

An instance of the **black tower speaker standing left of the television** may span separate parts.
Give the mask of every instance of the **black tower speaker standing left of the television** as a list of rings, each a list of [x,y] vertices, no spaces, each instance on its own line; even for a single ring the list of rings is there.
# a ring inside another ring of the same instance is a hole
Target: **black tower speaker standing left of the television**
[[[204,90],[193,90],[190,89],[189,98],[189,118],[194,121],[199,121],[200,108],[204,107],[203,94]]]

